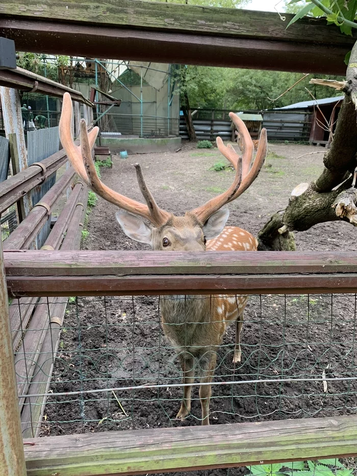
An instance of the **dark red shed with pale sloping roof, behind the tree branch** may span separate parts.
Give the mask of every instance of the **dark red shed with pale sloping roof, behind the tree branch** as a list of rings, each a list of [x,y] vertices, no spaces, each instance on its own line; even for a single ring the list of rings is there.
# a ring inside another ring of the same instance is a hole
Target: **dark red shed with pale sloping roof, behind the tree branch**
[[[310,112],[311,129],[309,142],[311,144],[329,145],[332,140],[331,132],[335,132],[336,121],[343,98],[344,96],[313,99],[312,101],[302,101],[300,103],[290,104],[283,108],[277,108],[277,110],[300,110]],[[326,121],[328,122],[329,127],[327,126]]]

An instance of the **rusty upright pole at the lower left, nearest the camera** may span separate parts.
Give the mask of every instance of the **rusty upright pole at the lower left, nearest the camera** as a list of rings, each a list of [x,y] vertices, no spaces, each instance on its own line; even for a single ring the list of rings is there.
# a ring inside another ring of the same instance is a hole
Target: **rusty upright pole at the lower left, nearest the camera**
[[[1,240],[0,342],[0,473],[2,476],[26,476]]]

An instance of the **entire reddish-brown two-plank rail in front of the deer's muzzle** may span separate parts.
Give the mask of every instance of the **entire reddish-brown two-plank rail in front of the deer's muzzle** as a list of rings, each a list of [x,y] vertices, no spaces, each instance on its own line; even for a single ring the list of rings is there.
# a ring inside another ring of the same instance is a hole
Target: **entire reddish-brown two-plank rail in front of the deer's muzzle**
[[[353,253],[18,250],[4,257],[14,297],[357,291]]]

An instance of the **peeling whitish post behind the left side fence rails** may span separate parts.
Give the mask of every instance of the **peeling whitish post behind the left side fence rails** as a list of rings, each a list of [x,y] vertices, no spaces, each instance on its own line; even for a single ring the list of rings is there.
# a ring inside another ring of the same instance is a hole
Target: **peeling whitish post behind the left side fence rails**
[[[0,97],[3,108],[6,137],[10,141],[10,134],[16,134],[17,170],[14,170],[14,173],[18,173],[28,166],[25,136],[22,125],[20,94],[16,89],[5,88],[2,86],[0,87]],[[32,202],[29,194],[23,197],[23,209],[25,216],[27,216],[32,209]]]

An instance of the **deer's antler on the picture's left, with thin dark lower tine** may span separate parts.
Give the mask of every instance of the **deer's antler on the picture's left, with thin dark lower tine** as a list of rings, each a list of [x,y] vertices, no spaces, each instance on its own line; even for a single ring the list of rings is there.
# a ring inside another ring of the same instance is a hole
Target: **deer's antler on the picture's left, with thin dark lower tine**
[[[88,134],[86,121],[81,119],[81,146],[77,146],[74,144],[72,138],[71,120],[72,101],[70,94],[65,92],[63,95],[60,119],[60,139],[74,170],[88,187],[92,189],[93,192],[104,198],[107,202],[110,202],[127,212],[147,218],[155,226],[160,227],[162,224],[166,223],[171,215],[165,210],[161,210],[156,204],[154,197],[145,184],[140,165],[135,164],[136,174],[141,193],[143,194],[147,205],[136,202],[132,198],[128,198],[115,192],[99,180],[91,154],[99,129],[94,127]]]

